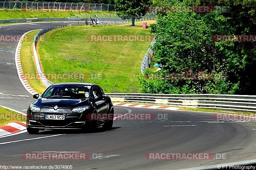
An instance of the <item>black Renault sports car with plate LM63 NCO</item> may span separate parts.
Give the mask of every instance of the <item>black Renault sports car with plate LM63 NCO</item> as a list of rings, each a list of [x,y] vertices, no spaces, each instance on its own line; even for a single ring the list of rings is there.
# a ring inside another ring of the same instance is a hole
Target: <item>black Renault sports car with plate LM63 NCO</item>
[[[37,134],[44,129],[112,129],[114,107],[102,88],[90,83],[56,83],[30,104],[27,130]]]

